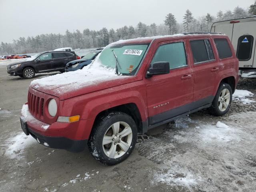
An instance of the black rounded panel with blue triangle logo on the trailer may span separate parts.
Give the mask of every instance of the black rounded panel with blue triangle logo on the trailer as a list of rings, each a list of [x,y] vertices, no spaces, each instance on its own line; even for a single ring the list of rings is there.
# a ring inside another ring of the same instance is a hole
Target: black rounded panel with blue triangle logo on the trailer
[[[236,57],[240,61],[248,61],[252,56],[253,36],[243,35],[238,38]]]

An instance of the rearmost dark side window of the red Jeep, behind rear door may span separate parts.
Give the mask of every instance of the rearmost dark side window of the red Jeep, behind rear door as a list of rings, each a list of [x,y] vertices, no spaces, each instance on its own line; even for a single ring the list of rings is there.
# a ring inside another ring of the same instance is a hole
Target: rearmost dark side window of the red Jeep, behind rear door
[[[232,52],[226,39],[214,39],[220,59],[232,57]]]

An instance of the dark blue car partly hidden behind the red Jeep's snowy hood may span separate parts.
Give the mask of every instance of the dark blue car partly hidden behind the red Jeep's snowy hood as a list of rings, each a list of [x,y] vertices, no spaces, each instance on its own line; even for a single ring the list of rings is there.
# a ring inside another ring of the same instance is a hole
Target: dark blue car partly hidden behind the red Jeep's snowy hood
[[[86,54],[82,59],[68,62],[65,67],[65,72],[75,71],[84,68],[84,66],[90,64],[100,52],[102,52],[102,49],[92,51]]]

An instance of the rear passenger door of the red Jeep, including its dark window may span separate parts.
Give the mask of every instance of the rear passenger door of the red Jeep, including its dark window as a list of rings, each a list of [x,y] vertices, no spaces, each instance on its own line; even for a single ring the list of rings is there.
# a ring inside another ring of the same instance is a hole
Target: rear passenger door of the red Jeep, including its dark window
[[[212,102],[218,81],[217,74],[223,66],[218,62],[211,38],[190,38],[188,42],[194,71],[193,101],[200,107]]]

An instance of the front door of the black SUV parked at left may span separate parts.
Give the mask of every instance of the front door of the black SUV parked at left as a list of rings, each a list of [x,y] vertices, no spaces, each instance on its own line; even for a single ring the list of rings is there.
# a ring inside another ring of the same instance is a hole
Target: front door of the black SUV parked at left
[[[36,61],[36,69],[38,72],[45,72],[48,70],[52,70],[52,53],[42,54]]]

